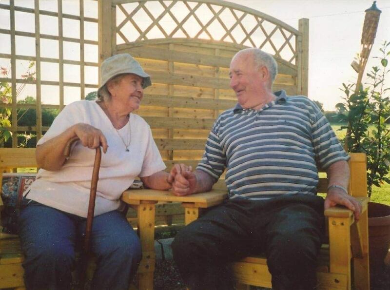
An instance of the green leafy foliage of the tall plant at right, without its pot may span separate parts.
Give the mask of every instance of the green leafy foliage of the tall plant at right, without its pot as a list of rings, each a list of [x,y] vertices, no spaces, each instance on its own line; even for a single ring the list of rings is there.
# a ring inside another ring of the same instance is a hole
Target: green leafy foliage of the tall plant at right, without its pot
[[[378,66],[373,66],[367,74],[369,81],[364,88],[359,87],[352,93],[355,84],[343,83],[341,89],[345,93],[344,102],[338,103],[339,121],[348,122],[344,145],[349,152],[363,152],[367,155],[368,195],[371,196],[372,185],[380,187],[390,183],[390,100],[386,88],[386,77],[390,70],[388,57],[390,42],[384,41]]]

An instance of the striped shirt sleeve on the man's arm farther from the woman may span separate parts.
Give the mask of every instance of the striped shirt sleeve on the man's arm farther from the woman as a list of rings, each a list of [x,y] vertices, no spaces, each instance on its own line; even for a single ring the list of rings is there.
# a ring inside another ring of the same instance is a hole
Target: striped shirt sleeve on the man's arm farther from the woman
[[[315,105],[313,109],[312,142],[317,162],[323,169],[327,169],[337,161],[349,160],[350,156],[344,151],[327,118]]]

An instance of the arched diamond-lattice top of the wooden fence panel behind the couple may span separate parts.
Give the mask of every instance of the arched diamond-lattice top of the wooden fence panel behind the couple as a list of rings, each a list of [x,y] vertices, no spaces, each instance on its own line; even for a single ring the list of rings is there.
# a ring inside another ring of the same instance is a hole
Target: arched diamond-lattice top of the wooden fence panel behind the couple
[[[127,3],[124,3],[127,2]],[[299,31],[258,11],[215,0],[113,1],[117,44],[150,39],[205,39],[258,47],[296,61]]]

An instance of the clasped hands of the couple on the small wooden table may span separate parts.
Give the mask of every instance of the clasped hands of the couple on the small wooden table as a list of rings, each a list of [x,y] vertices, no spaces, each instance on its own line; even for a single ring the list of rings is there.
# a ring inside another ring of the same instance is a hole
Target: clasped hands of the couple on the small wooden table
[[[196,175],[192,172],[192,166],[175,164],[167,179],[172,185],[172,192],[176,196],[189,195],[195,192]]]

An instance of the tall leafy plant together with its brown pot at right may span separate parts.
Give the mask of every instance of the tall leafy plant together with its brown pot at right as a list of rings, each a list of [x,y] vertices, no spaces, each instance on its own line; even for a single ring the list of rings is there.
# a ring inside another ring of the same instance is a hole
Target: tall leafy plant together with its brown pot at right
[[[343,83],[344,102],[336,105],[339,120],[348,123],[340,128],[347,129],[342,140],[345,148],[348,152],[367,155],[369,197],[373,186],[390,183],[390,88],[386,87],[390,72],[389,49],[390,42],[385,41],[379,49],[381,56],[375,57],[379,65],[373,66],[367,74],[366,87],[360,85],[359,90],[351,94],[355,85]],[[376,283],[378,270],[386,271],[389,265],[385,266],[385,261],[390,262],[390,206],[370,202],[368,214],[371,282]]]

